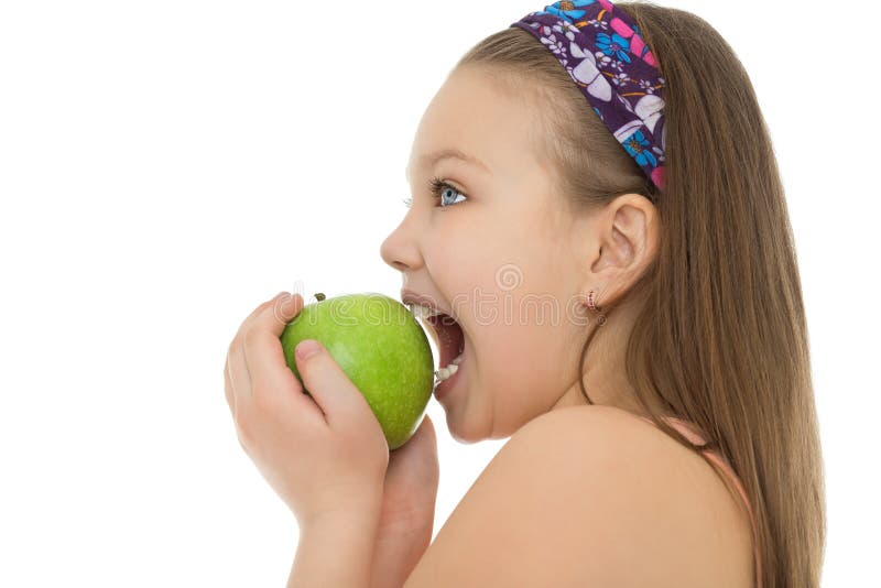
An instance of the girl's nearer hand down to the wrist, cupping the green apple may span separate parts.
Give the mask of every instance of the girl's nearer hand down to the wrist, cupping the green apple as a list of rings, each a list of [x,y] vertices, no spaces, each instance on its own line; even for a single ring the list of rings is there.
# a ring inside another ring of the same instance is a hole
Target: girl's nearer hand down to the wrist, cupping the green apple
[[[311,396],[287,367],[280,337],[302,308],[303,297],[289,293],[258,306],[224,368],[239,443],[301,529],[378,510],[389,465],[379,421],[324,347],[295,360]]]

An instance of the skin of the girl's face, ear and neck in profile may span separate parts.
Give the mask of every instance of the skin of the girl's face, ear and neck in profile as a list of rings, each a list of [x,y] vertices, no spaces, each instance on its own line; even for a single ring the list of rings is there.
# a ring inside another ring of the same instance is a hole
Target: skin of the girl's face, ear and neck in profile
[[[624,194],[591,214],[567,213],[531,129],[541,121],[526,104],[477,67],[454,70],[416,131],[412,205],[380,248],[403,287],[452,309],[463,328],[466,361],[440,401],[460,443],[505,438],[543,413],[587,404],[579,378],[595,404],[643,414],[624,378],[633,311],[620,306],[599,326],[586,296],[594,290],[602,307],[644,271],[657,249],[655,207]],[[448,148],[483,166],[424,160]],[[446,207],[428,188],[435,176],[450,185]],[[599,333],[579,374],[589,329]]]

